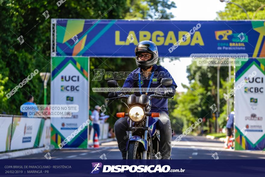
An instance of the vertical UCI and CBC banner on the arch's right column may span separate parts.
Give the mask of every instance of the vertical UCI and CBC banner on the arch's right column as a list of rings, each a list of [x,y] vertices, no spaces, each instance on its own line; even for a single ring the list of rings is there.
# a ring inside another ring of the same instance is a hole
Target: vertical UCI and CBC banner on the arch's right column
[[[235,73],[235,150],[265,150],[265,59],[248,59]]]

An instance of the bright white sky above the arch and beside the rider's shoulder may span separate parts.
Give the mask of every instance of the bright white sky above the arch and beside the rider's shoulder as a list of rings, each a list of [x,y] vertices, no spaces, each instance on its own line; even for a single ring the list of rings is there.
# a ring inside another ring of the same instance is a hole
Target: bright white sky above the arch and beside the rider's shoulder
[[[175,16],[172,20],[214,20],[217,17],[216,12],[223,11],[226,6],[225,2],[219,0],[173,0],[173,2],[176,3],[177,8],[170,10]],[[181,83],[189,85],[186,68],[190,64],[190,58],[180,58],[180,61],[173,62],[164,58],[164,62],[161,62],[178,85],[178,92],[186,91]]]

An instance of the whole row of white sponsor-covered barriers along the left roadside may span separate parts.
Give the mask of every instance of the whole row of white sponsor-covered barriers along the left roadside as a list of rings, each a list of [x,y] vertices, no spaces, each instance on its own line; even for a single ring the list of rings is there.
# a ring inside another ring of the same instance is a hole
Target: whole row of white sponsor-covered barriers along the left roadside
[[[50,119],[0,114],[0,152],[48,146],[50,127]]]

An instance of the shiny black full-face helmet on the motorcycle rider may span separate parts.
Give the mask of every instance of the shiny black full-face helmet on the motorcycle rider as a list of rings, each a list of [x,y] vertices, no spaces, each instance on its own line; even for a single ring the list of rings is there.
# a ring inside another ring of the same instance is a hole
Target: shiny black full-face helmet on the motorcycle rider
[[[138,55],[142,52],[148,52],[152,57],[147,61],[139,61]],[[135,47],[135,61],[136,65],[140,68],[150,68],[155,65],[158,61],[158,51],[157,46],[152,41],[142,41],[137,44]]]

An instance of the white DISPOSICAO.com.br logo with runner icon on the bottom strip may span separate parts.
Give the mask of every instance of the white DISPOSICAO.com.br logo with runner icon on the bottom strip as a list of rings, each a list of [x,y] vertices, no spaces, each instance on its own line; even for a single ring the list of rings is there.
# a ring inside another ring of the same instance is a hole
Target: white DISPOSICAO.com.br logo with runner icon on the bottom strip
[[[97,174],[99,173],[100,169],[102,167],[102,163],[96,162],[92,163],[92,171],[90,174]],[[155,172],[184,172],[185,169],[170,169],[169,165],[104,165],[102,172],[124,172],[129,171],[131,173],[134,172],[149,172],[149,173],[155,173]]]

